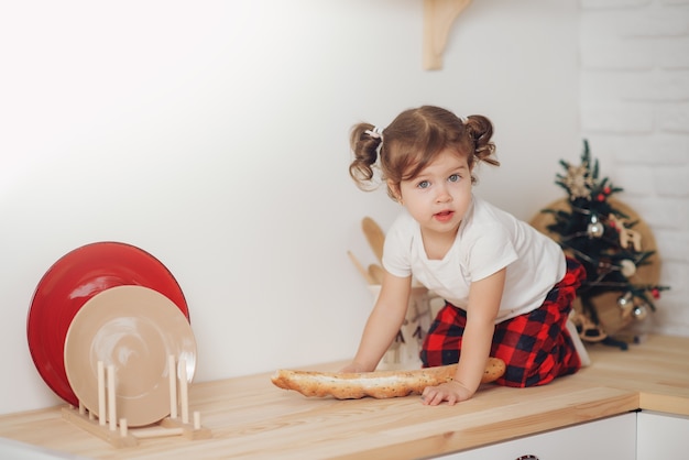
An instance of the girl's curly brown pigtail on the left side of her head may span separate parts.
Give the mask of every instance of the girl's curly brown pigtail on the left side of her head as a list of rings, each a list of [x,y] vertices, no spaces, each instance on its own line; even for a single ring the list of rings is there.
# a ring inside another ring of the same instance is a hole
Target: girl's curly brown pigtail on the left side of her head
[[[351,130],[349,144],[354,160],[349,165],[349,175],[362,190],[375,188],[374,165],[378,162],[379,147],[382,142],[382,133],[373,124],[359,123]]]

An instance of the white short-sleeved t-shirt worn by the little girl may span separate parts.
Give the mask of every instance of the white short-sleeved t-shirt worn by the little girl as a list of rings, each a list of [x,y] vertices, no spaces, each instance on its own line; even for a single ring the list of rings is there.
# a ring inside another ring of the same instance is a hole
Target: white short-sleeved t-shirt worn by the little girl
[[[383,265],[395,276],[413,275],[464,310],[471,282],[506,266],[495,322],[538,308],[567,271],[565,254],[555,241],[477,196],[442,260],[426,256],[418,222],[408,212],[401,213],[385,237]]]

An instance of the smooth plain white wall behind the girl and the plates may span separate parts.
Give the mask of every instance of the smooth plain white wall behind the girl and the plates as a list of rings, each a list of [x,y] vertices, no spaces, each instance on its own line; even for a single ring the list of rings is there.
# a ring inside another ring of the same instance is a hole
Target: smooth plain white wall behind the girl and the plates
[[[61,403],[25,326],[44,272],[118,240],[176,276],[197,381],[351,357],[371,298],[348,131],[420,103],[493,119],[477,193],[528,219],[581,147],[575,0],[474,1],[441,72],[420,0],[0,4],[0,413]]]

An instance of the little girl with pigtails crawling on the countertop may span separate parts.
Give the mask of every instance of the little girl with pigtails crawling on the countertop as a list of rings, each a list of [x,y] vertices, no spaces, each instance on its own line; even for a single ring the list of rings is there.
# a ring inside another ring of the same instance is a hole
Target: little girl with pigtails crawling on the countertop
[[[385,129],[353,127],[349,171],[362,189],[380,168],[404,210],[385,238],[385,275],[359,350],[343,372],[370,372],[402,326],[412,277],[446,299],[420,352],[423,365],[459,363],[452,381],[426,387],[424,404],[452,405],[479,387],[489,357],[507,386],[543,385],[581,361],[566,328],[583,269],[525,222],[472,194],[478,163],[500,165],[483,116],[460,119],[425,106]]]

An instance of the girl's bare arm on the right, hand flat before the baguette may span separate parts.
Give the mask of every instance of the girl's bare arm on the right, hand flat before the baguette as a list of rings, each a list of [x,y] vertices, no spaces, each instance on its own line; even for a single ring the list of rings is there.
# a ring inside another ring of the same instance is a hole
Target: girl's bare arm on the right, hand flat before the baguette
[[[451,382],[424,390],[424,404],[435,406],[444,401],[452,405],[469,399],[479,387],[491,352],[495,317],[505,286],[506,269],[471,284],[467,326],[457,373]]]

